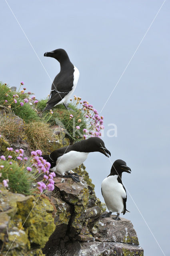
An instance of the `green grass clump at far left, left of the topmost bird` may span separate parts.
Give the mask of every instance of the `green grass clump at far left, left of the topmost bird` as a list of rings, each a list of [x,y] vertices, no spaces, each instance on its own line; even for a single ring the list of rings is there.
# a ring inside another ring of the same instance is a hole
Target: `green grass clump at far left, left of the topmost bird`
[[[8,94],[8,96],[6,96]],[[14,94],[18,94],[19,98],[15,98],[17,103],[14,103]],[[2,84],[0,82],[0,105],[8,107],[11,105],[12,112],[24,120],[24,122],[29,123],[31,121],[38,121],[40,117],[37,115],[36,111],[26,103],[24,106],[20,106],[20,102],[23,102],[24,98],[28,98],[28,94],[21,94],[20,92],[10,92],[9,86]],[[5,102],[8,100],[8,103]]]

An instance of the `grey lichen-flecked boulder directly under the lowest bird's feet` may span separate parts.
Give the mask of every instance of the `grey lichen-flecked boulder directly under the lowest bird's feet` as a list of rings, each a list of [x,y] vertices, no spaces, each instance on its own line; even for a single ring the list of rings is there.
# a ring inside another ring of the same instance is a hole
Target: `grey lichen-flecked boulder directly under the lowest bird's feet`
[[[112,216],[112,215],[111,215]],[[136,231],[130,220],[120,218],[100,218],[92,228],[92,234],[100,242],[123,242],[139,245]]]

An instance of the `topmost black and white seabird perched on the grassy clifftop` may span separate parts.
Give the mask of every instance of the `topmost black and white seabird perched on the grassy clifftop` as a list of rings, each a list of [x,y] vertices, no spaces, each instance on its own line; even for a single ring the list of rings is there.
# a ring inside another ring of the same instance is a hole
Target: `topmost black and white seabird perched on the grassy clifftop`
[[[59,104],[64,104],[66,107],[66,102],[76,89],[80,73],[70,62],[68,54],[63,49],[45,52],[44,56],[55,58],[60,62],[60,73],[54,78],[47,106],[43,111],[49,110]]]

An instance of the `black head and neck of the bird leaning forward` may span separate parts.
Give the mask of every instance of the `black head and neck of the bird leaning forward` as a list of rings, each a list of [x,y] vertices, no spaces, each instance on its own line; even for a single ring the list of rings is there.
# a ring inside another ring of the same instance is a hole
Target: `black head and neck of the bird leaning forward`
[[[100,152],[105,156],[111,156],[110,151],[105,147],[104,141],[98,137],[91,137],[87,140],[84,140],[87,145],[87,152]]]

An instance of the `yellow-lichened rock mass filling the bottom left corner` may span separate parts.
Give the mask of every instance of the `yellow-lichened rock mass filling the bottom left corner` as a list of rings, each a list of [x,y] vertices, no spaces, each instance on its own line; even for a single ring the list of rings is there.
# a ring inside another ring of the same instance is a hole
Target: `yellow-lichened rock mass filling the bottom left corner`
[[[2,185],[0,190],[2,255],[6,255],[9,250],[9,256],[23,256],[36,247],[44,247],[55,229],[52,217],[54,208],[49,200],[38,196],[14,194]]]

